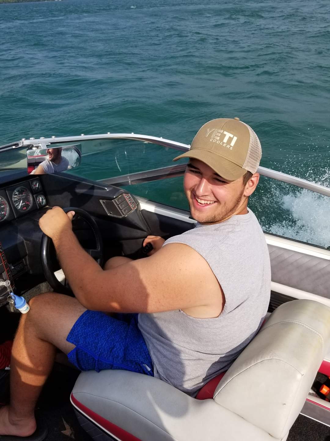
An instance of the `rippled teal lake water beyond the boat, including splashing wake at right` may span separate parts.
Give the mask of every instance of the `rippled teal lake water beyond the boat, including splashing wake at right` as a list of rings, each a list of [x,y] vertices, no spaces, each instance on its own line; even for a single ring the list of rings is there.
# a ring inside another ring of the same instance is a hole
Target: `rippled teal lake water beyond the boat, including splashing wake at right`
[[[330,187],[329,23],[328,0],[0,4],[0,144],[106,132],[189,144],[238,116],[261,165]],[[90,155],[94,179],[99,167]],[[263,184],[251,205],[264,229],[329,246],[326,199]]]

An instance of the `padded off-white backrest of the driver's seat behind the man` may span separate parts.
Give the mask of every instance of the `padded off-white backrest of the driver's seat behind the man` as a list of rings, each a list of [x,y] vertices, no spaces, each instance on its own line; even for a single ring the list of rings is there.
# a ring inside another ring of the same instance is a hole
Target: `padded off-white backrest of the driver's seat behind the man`
[[[231,365],[214,400],[281,439],[299,415],[330,342],[330,308],[279,306]]]

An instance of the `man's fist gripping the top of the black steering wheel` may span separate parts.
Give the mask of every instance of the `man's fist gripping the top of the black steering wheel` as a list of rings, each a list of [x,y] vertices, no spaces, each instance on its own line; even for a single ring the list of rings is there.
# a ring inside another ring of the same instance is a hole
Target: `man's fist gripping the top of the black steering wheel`
[[[72,230],[72,218],[74,214],[74,211],[65,213],[62,208],[53,207],[40,217],[39,226],[42,232],[55,242],[63,232]]]

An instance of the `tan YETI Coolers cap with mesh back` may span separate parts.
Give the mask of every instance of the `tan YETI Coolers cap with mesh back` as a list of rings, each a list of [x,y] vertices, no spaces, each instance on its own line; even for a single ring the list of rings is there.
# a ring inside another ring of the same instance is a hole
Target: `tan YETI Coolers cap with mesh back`
[[[202,126],[190,149],[180,158],[203,161],[222,178],[235,181],[247,171],[257,172],[261,159],[260,141],[255,132],[238,118],[219,118]]]

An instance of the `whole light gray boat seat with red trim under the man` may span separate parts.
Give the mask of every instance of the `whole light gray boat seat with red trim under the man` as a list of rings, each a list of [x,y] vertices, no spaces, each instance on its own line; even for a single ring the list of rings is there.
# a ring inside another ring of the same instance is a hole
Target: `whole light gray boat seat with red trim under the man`
[[[220,380],[213,399],[124,370],[83,372],[71,402],[96,439],[285,441],[330,343],[330,308],[279,306]],[[102,430],[100,430],[100,428]]]

